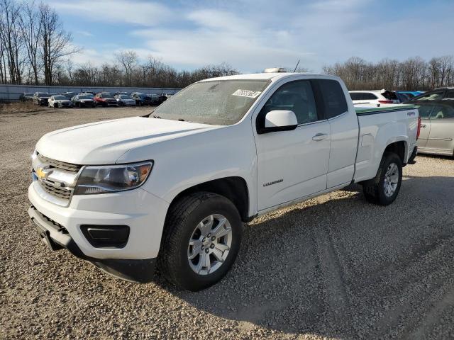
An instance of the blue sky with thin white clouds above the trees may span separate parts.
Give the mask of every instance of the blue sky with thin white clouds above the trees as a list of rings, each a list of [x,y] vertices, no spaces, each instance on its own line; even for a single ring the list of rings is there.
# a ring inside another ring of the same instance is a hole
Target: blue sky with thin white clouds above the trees
[[[119,50],[176,69],[226,62],[240,72],[324,65],[362,57],[454,55],[453,0],[143,1],[45,0],[73,43],[76,64],[114,61]]]

